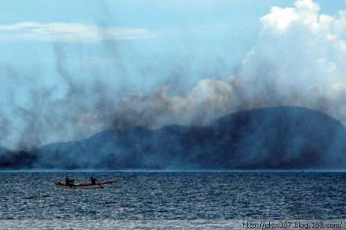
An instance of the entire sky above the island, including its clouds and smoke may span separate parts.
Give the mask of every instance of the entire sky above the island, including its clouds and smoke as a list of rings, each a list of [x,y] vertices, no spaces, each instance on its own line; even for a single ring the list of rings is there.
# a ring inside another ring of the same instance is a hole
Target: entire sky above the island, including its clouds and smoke
[[[0,145],[299,105],[346,124],[345,1],[19,1],[0,8]]]

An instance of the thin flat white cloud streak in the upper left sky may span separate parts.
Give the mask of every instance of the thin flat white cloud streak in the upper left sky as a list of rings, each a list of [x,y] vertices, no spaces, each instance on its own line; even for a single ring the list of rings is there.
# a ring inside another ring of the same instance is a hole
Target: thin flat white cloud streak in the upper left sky
[[[102,39],[142,39],[151,37],[145,28],[114,28],[78,23],[26,21],[0,24],[0,40],[48,42],[95,42]]]

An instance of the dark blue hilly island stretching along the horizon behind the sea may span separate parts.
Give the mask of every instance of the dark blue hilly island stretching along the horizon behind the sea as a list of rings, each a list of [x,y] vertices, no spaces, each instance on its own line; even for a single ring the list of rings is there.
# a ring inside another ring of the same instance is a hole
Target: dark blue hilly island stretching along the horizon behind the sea
[[[206,127],[105,130],[31,151],[0,149],[1,169],[343,169],[346,130],[302,107],[230,114]]]

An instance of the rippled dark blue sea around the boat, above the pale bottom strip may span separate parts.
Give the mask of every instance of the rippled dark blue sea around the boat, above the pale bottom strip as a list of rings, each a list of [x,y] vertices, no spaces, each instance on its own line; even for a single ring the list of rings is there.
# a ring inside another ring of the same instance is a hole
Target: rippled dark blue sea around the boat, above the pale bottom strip
[[[55,188],[116,179],[104,189]],[[1,220],[345,219],[345,172],[0,172]]]

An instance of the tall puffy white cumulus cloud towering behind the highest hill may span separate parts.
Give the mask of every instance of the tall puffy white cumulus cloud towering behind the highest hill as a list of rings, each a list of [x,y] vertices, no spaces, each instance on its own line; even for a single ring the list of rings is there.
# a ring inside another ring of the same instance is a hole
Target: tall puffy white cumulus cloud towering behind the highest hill
[[[273,105],[322,109],[346,125],[346,11],[319,10],[311,0],[271,8],[238,77],[249,101],[265,96]]]

